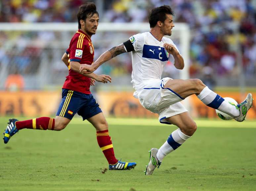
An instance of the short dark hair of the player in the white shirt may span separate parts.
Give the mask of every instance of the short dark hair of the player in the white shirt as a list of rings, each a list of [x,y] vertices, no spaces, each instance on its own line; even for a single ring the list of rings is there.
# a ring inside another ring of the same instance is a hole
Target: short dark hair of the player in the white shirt
[[[149,24],[150,28],[154,27],[157,21],[164,22],[166,19],[166,14],[171,14],[174,16],[174,11],[172,11],[169,5],[163,5],[150,10],[149,12]]]

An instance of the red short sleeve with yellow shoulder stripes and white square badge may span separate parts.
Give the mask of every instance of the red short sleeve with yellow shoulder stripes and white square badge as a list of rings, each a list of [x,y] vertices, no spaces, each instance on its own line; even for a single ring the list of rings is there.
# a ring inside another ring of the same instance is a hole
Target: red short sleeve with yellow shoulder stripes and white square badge
[[[70,61],[80,62],[83,56],[82,38],[75,38],[69,45],[69,59]]]

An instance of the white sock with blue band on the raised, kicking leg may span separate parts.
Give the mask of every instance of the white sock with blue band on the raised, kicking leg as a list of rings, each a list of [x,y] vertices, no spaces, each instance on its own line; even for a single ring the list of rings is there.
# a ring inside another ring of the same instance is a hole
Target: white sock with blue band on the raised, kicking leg
[[[207,86],[197,97],[207,106],[218,109],[232,117],[239,116],[239,110],[228,101],[225,101],[220,95],[211,91]]]

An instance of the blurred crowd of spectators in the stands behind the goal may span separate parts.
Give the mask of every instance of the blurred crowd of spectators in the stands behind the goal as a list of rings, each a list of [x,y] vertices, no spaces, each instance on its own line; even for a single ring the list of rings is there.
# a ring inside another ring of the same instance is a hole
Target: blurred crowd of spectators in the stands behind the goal
[[[0,22],[77,22],[78,7],[85,2],[84,0],[1,0]],[[97,5],[100,22],[148,22],[151,8],[170,5],[175,12],[174,22],[185,22],[190,27],[190,60],[186,64],[189,64],[191,78],[202,78],[209,86],[237,86],[241,69],[237,64],[237,49],[239,49],[243,73],[246,79],[251,80],[251,84],[247,85],[255,86],[255,0],[94,0],[93,2]],[[61,63],[61,56],[74,32],[64,38],[60,34],[61,29],[60,32],[0,30],[0,66],[5,71],[0,72],[1,79],[5,79],[5,85],[2,82],[1,89],[9,87],[13,77],[8,79],[8,76],[10,78],[15,74],[16,77],[24,78],[24,81],[18,85],[20,89],[44,88],[38,85],[40,82],[36,81],[33,75],[38,73],[45,75],[47,66],[51,66],[51,70],[56,74],[47,78],[48,84],[61,85],[67,74],[65,65]],[[97,59],[112,45],[126,41],[131,35],[131,33],[96,33],[92,39],[95,58]],[[111,39],[111,43],[106,41],[104,44],[102,39]],[[176,43],[179,44],[178,41]],[[59,51],[56,51],[56,48]],[[164,76],[175,78],[172,68],[170,64]],[[117,78],[126,76],[123,82],[125,85],[129,84],[131,71],[131,59],[128,54],[117,56],[99,70]]]

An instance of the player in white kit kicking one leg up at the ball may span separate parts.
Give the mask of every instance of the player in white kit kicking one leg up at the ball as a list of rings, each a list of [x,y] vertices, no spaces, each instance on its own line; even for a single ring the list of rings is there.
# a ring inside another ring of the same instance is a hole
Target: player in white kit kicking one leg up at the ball
[[[82,74],[91,73],[111,58],[124,52],[132,52],[131,82],[135,89],[134,97],[139,99],[143,107],[157,113],[160,123],[178,127],[159,149],[150,150],[146,175],[151,175],[156,167],[159,168],[163,158],[181,146],[196,130],[196,123],[181,104],[181,100],[195,94],[207,106],[227,113],[238,122],[244,120],[252,106],[252,94],[248,94],[239,105],[233,106],[199,79],[161,79],[168,60],[177,69],[184,68],[184,60],[178,48],[172,40],[164,37],[172,34],[173,16],[170,6],[152,9],[149,13],[150,32],[136,34],[128,41],[110,48],[92,65],[80,66]]]

